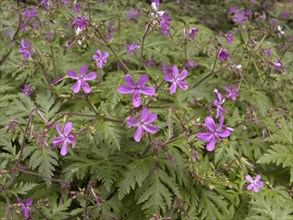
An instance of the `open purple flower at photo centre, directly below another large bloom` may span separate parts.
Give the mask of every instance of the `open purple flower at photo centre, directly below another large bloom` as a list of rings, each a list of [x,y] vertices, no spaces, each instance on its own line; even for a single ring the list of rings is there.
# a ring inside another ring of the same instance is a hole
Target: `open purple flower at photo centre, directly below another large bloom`
[[[129,127],[138,127],[133,138],[136,142],[140,142],[142,135],[145,132],[149,132],[151,134],[155,134],[158,131],[158,126],[152,125],[152,122],[157,120],[157,114],[152,112],[148,114],[148,109],[143,108],[140,113],[140,121],[135,118],[130,118],[127,120],[127,124]]]

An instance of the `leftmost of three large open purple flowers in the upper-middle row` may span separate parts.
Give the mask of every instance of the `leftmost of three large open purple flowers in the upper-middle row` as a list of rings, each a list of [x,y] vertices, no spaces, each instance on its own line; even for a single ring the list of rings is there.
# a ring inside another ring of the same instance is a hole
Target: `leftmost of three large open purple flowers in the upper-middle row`
[[[88,68],[89,67],[87,65],[83,65],[80,68],[80,75],[76,74],[73,70],[69,70],[66,73],[66,75],[69,76],[70,78],[77,80],[77,82],[72,87],[72,91],[74,93],[78,93],[80,90],[80,87],[83,89],[85,93],[90,93],[92,91],[91,87],[89,86],[89,84],[87,84],[86,81],[94,80],[97,77],[97,74],[95,72],[91,72],[85,75],[86,72],[88,71]]]

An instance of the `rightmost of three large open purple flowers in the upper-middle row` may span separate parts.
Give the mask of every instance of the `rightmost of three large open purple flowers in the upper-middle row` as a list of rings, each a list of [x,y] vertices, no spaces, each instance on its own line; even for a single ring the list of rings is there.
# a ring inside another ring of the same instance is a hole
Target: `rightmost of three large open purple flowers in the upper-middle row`
[[[172,68],[172,73],[165,74],[164,80],[167,82],[171,82],[172,85],[170,87],[170,93],[174,94],[177,90],[177,85],[183,89],[188,89],[188,84],[184,81],[184,79],[188,76],[187,70],[182,70],[182,72],[179,75],[178,67],[176,65]]]

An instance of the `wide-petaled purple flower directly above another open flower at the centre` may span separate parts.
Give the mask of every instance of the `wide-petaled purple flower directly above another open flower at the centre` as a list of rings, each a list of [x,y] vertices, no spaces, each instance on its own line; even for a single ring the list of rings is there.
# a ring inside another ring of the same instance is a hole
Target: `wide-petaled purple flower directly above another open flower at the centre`
[[[118,92],[121,94],[131,94],[132,96],[132,104],[135,108],[141,105],[141,97],[140,94],[144,94],[147,96],[153,96],[156,93],[156,90],[153,87],[144,87],[144,85],[148,82],[149,77],[147,74],[143,74],[137,83],[134,83],[131,75],[125,75],[125,82],[127,86],[119,86]]]

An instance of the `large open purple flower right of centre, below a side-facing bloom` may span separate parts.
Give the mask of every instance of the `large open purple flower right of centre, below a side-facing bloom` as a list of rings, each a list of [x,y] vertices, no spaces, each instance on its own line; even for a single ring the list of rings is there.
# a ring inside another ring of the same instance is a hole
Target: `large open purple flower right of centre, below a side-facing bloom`
[[[215,149],[217,139],[221,141],[221,138],[229,137],[231,134],[231,131],[233,131],[232,128],[227,128],[223,130],[222,129],[223,123],[224,123],[223,116],[220,118],[218,127],[216,127],[215,121],[212,117],[206,117],[205,124],[210,132],[200,133],[197,136],[197,138],[199,141],[208,141],[206,145],[206,149],[208,151],[213,151]]]

